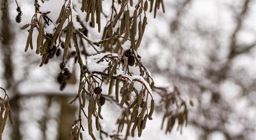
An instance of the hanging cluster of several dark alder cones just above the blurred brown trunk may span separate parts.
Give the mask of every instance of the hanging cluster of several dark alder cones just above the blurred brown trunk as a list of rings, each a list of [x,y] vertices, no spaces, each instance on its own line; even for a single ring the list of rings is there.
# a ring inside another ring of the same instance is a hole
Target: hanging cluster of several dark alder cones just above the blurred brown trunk
[[[60,63],[60,69],[61,72],[59,72],[57,76],[57,81],[60,84],[60,90],[63,90],[66,86],[66,80],[70,79],[71,73],[69,72],[69,69],[67,69],[64,62]]]

